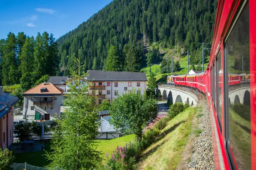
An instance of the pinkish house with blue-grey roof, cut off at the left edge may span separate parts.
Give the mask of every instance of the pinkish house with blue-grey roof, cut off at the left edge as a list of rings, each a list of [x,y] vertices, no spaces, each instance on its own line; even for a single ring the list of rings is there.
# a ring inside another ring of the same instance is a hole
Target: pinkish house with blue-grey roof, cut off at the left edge
[[[14,105],[19,101],[15,96],[3,92],[0,86],[0,148],[13,143]]]

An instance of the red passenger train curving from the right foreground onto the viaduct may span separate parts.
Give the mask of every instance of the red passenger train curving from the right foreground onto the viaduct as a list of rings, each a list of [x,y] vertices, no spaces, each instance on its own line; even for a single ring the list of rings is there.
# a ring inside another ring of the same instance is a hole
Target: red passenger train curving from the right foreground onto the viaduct
[[[206,71],[167,78],[206,94],[216,169],[256,170],[255,8],[256,0],[219,0]]]

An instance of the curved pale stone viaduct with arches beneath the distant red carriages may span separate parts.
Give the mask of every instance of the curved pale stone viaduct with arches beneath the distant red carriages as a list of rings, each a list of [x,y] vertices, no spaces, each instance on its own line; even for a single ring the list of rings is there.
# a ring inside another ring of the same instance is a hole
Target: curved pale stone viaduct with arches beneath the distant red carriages
[[[162,95],[163,100],[167,102],[176,103],[185,102],[194,107],[198,104],[198,96],[194,93],[197,90],[191,90],[190,88],[176,88],[168,85],[158,85],[157,94]]]

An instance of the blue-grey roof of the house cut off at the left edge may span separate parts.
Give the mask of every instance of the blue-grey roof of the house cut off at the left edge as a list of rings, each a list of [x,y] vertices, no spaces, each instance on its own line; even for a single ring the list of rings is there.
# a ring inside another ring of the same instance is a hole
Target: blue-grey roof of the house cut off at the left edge
[[[19,99],[7,93],[0,96],[0,119],[10,111],[11,107],[17,103]]]

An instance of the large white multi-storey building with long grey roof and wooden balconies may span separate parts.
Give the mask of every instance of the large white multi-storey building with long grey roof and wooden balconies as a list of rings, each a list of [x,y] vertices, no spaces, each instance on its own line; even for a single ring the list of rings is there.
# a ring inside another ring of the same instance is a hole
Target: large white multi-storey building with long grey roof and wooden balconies
[[[87,80],[91,82],[89,94],[96,97],[96,105],[102,100],[112,102],[118,94],[129,93],[132,88],[143,93],[148,81],[145,73],[125,71],[88,71]]]

